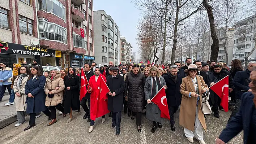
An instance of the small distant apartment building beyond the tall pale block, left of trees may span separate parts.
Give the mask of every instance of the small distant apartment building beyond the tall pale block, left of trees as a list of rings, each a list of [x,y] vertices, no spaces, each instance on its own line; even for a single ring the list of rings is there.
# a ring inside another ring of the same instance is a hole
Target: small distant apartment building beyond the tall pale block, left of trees
[[[120,37],[121,62],[131,63],[132,45],[128,43],[124,36]]]

